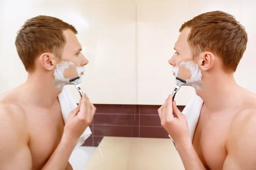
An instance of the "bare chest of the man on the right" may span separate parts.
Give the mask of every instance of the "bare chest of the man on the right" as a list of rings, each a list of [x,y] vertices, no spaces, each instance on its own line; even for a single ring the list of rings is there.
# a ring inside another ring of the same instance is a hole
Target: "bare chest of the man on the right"
[[[193,138],[193,146],[202,163],[210,170],[222,169],[227,156],[225,142],[231,122],[227,114],[205,113],[202,109]]]

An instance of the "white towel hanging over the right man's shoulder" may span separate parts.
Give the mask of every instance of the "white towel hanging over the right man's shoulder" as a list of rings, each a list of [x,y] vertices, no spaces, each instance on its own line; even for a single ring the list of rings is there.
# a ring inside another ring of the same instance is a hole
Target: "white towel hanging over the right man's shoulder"
[[[186,120],[189,124],[190,138],[193,141],[195,128],[198,123],[198,119],[201,113],[201,108],[204,101],[196,94],[193,94],[192,98],[189,100],[186,107],[183,109],[182,113],[186,115]],[[169,135],[171,138],[171,136]],[[172,138],[171,138],[172,139]]]

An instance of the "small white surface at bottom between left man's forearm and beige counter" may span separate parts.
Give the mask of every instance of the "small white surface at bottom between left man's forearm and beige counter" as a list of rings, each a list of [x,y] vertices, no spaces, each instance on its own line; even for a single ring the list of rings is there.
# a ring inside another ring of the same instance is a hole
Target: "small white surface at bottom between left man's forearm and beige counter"
[[[82,146],[74,150],[70,156],[69,162],[73,170],[84,170],[90,158],[93,156],[97,147]]]

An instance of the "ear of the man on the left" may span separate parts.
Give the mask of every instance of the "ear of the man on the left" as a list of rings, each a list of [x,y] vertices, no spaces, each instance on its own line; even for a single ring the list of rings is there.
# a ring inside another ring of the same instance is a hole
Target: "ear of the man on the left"
[[[40,56],[40,63],[43,68],[51,71],[54,70],[55,65],[58,63],[58,58],[51,53],[44,53]]]

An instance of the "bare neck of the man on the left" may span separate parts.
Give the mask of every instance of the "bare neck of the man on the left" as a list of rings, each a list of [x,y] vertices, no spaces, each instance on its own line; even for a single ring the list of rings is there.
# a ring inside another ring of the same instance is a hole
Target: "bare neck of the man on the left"
[[[56,101],[61,89],[53,85],[53,77],[47,74],[29,73],[23,84],[31,103],[40,107],[49,108]]]

